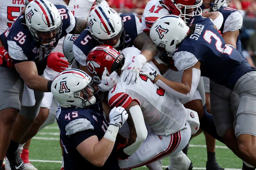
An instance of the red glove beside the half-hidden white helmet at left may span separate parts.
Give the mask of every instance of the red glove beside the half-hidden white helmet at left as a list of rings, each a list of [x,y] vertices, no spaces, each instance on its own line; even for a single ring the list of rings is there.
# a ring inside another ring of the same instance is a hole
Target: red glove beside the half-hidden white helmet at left
[[[48,55],[47,58],[47,66],[57,72],[61,72],[63,70],[66,70],[68,67],[68,62],[66,60],[61,59],[61,57],[65,57],[64,54],[60,52],[53,52]]]

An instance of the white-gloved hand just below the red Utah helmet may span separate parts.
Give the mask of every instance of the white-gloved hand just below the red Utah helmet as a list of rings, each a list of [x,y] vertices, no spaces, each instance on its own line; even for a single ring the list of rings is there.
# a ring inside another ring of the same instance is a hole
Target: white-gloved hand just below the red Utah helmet
[[[119,81],[120,77],[117,75],[117,72],[112,72],[109,76],[107,76],[108,70],[105,68],[102,77],[101,77],[101,83],[99,84],[99,87],[102,92],[107,92],[112,87],[114,87]]]

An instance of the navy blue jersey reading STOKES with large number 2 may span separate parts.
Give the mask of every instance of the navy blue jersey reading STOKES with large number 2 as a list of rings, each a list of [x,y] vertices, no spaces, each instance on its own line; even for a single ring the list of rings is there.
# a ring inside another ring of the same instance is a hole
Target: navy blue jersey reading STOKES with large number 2
[[[241,76],[256,70],[233,46],[225,44],[210,18],[195,16],[188,24],[195,24],[196,28],[173,54],[174,65],[178,70],[186,70],[200,61],[201,76],[231,90]]]

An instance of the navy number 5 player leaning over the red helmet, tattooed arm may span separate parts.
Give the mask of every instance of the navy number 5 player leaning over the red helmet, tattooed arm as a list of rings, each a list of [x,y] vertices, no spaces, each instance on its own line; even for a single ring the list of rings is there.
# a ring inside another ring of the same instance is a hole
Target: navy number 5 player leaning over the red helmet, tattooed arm
[[[97,45],[107,44],[117,50],[134,45],[141,49],[141,54],[133,59],[135,62],[126,63],[126,66],[130,64],[126,82],[133,84],[139,77],[142,65],[151,60],[157,52],[156,45],[142,32],[139,18],[133,14],[118,14],[112,8],[98,6],[90,12],[88,23],[89,27],[74,42],[73,52],[76,62],[73,63],[72,68],[88,72],[85,60],[90,50]]]

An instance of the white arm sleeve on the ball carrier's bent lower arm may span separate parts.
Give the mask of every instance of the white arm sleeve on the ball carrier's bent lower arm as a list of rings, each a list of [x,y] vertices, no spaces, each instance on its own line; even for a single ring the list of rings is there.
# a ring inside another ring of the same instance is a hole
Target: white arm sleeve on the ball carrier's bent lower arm
[[[136,141],[124,148],[124,153],[127,155],[132,155],[148,136],[148,131],[144,122],[143,114],[139,105],[130,108],[130,113],[132,115],[132,120],[136,129]]]

